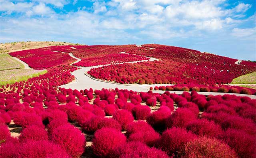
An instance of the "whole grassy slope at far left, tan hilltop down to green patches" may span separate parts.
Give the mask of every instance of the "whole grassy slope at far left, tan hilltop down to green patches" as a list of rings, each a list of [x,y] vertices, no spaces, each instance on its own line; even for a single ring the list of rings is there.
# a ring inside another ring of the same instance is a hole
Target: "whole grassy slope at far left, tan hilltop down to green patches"
[[[26,81],[29,78],[39,76],[47,71],[24,69],[24,65],[13,59],[8,53],[54,45],[77,45],[68,42],[56,41],[21,41],[0,43],[0,85],[12,84],[18,81]]]

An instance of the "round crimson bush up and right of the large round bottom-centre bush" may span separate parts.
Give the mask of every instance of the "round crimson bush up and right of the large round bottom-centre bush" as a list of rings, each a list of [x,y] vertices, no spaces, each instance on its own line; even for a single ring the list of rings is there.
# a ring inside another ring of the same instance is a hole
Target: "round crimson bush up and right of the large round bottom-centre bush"
[[[122,130],[126,130],[128,124],[134,120],[134,117],[130,111],[123,109],[116,111],[113,115],[113,119],[117,120],[121,124]]]

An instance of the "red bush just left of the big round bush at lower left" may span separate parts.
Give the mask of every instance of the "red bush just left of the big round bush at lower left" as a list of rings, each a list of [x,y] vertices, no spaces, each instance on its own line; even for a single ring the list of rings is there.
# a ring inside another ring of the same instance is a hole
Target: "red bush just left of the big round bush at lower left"
[[[26,128],[22,129],[20,134],[20,141],[48,140],[48,133],[46,130],[38,126],[27,126]]]

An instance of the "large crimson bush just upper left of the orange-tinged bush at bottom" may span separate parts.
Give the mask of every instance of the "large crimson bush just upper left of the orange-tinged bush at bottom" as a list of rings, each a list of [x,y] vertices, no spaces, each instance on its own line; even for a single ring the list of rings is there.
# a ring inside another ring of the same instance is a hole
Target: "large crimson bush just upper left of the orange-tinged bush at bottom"
[[[178,155],[184,150],[185,144],[196,138],[196,135],[187,132],[184,128],[170,128],[163,132],[158,142],[158,147],[166,151],[168,155]]]

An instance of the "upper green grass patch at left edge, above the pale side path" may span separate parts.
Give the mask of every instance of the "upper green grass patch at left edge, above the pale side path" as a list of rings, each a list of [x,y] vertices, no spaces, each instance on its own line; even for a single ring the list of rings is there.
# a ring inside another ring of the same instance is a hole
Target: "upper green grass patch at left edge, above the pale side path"
[[[0,54],[0,71],[23,69],[25,66],[7,53]]]

